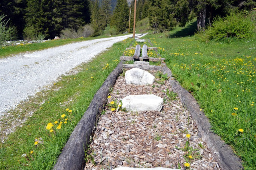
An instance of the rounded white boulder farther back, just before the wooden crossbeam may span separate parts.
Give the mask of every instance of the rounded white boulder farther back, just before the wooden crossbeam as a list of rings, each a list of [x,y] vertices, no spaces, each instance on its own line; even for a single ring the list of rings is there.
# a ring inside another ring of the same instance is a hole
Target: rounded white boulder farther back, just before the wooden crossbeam
[[[132,68],[125,72],[126,84],[147,85],[153,84],[155,77],[149,72],[140,68]]]

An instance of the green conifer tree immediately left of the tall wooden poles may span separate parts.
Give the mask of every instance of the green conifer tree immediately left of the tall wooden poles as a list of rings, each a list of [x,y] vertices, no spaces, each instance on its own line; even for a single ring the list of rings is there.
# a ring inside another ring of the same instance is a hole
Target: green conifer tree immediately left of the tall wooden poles
[[[126,0],[118,0],[114,10],[110,25],[115,26],[119,33],[123,33],[128,28],[129,7]]]

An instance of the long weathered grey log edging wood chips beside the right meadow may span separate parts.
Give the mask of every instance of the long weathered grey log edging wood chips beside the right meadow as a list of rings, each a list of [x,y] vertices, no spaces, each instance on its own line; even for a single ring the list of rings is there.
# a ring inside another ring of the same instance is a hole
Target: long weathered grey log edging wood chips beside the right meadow
[[[196,99],[172,77],[172,71],[162,64],[162,72],[167,74],[172,90],[178,94],[182,104],[190,112],[191,117],[195,120],[198,127],[198,136],[207,144],[208,149],[212,152],[216,162],[222,170],[242,170],[242,160],[236,156],[232,148],[225,144],[220,136],[214,134],[211,130],[209,119],[204,112],[200,111],[200,106]]]

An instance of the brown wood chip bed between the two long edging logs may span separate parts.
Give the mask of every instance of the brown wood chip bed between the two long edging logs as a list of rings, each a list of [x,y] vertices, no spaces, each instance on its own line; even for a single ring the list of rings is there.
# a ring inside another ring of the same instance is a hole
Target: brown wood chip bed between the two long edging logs
[[[151,72],[155,74],[156,72]],[[166,89],[171,87],[154,83],[148,86],[127,85],[124,74],[116,80],[108,99],[120,101],[127,95],[155,94],[164,99],[161,112],[110,111],[100,117],[87,153],[85,170],[111,170],[116,167],[166,167],[184,169],[188,155],[184,148],[186,134],[190,134],[190,146],[198,151],[190,155],[190,168],[194,170],[220,170],[206,144],[200,138],[194,121],[182,106],[178,97],[170,100]],[[202,144],[202,147],[198,144]],[[202,158],[196,157],[196,152]],[[185,159],[185,158],[186,159]],[[92,161],[93,160],[93,161]]]

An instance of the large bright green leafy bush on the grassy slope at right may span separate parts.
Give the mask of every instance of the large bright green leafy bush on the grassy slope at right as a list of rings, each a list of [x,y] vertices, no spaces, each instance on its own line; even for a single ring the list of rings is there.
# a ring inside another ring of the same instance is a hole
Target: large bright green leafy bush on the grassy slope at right
[[[224,40],[230,41],[235,39],[248,39],[252,37],[255,25],[250,17],[241,12],[233,12],[230,15],[221,18],[214,18],[212,25],[206,30],[200,30],[196,37],[202,41]]]

